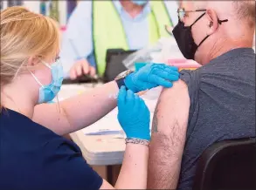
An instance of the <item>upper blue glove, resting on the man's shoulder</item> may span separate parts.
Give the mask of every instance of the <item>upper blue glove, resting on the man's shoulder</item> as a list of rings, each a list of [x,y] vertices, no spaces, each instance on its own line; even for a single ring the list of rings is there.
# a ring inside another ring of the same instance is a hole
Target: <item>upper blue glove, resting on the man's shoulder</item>
[[[147,64],[125,78],[124,83],[132,92],[141,92],[158,85],[165,88],[172,86],[172,81],[179,78],[178,69],[167,64]]]

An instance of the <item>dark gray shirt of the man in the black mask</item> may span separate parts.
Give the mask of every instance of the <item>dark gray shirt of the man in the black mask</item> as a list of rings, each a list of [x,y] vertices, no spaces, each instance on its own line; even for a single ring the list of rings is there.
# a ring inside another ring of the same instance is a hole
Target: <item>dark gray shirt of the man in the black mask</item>
[[[255,137],[255,53],[239,48],[196,71],[181,71],[190,115],[177,189],[191,189],[197,159],[223,139]]]

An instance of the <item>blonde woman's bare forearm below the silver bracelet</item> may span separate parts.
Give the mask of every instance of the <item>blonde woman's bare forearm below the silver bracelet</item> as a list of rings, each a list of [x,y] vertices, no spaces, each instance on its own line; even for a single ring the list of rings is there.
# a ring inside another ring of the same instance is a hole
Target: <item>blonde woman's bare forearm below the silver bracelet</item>
[[[149,147],[127,144],[116,189],[146,189]]]

